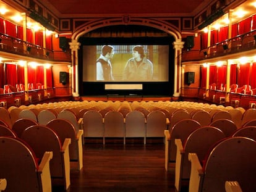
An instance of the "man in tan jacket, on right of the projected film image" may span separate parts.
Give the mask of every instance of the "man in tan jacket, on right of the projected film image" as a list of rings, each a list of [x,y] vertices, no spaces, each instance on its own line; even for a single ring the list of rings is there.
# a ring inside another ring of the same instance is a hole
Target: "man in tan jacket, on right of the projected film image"
[[[134,46],[132,58],[129,59],[124,67],[124,80],[152,80],[153,64],[144,54],[142,46]]]

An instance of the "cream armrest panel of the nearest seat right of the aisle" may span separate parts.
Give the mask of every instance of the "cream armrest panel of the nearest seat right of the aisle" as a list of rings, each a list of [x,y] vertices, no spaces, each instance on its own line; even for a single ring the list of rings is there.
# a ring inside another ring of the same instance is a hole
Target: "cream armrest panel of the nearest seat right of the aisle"
[[[197,154],[189,153],[189,161],[191,162],[189,192],[198,192],[200,191],[203,180],[203,168],[198,160]]]

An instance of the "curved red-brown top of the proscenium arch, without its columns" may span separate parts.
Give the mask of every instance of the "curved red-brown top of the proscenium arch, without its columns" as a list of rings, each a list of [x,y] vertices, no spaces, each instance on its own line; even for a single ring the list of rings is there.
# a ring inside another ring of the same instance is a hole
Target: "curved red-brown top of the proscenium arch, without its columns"
[[[171,25],[170,23],[155,20],[155,19],[144,19],[144,18],[130,18],[129,16],[126,17],[119,17],[113,19],[98,19],[93,20],[92,22],[87,22],[84,25],[79,26],[76,28],[73,35],[72,40],[78,41],[80,36],[88,33],[90,31],[96,30],[97,28],[108,27],[113,25],[143,25],[147,27],[153,27],[158,30],[162,30],[169,35],[174,37],[174,40],[179,41],[181,40],[181,33],[177,27]]]

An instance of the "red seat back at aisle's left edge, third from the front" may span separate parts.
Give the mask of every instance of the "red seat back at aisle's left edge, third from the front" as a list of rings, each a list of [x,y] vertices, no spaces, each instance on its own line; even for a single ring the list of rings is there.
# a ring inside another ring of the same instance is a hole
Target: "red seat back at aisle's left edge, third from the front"
[[[66,138],[71,139],[71,144],[69,145],[69,157],[70,161],[77,160],[79,158],[79,149],[77,148],[77,136],[76,131],[72,123],[66,119],[53,119],[47,124],[47,127],[54,130],[59,136],[61,143],[64,143]]]

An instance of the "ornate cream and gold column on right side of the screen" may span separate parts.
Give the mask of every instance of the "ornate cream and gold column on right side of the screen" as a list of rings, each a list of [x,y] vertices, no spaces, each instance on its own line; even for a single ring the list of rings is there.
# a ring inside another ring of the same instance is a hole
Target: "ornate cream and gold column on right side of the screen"
[[[177,39],[173,42],[175,49],[174,57],[174,91],[173,96],[179,97],[181,94],[181,49],[183,48],[184,42],[181,39]]]

